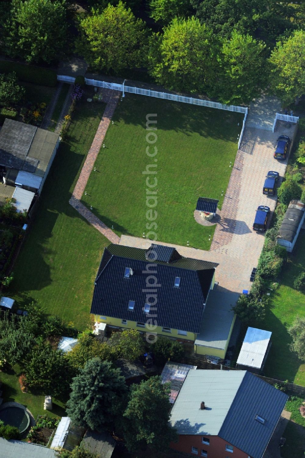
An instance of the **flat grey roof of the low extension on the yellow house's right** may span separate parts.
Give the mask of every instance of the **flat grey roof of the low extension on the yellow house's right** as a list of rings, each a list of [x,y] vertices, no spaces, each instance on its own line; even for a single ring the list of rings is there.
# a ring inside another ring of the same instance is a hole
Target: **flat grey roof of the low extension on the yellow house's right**
[[[231,306],[238,297],[238,293],[222,289],[219,285],[217,289],[209,292],[200,331],[195,340],[196,345],[225,349],[234,320]]]

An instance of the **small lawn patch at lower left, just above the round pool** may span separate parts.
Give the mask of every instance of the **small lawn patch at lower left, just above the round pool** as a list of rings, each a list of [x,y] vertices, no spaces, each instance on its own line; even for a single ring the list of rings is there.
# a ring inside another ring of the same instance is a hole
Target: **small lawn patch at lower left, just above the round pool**
[[[14,366],[14,369],[9,369],[5,372],[0,372],[1,390],[3,390],[3,402],[15,401],[27,407],[33,414],[35,420],[37,415],[48,413],[49,416],[64,415],[64,404],[58,399],[53,398],[53,410],[46,412],[43,410],[44,396],[37,396],[31,393],[22,393],[18,377],[20,375],[20,367]]]

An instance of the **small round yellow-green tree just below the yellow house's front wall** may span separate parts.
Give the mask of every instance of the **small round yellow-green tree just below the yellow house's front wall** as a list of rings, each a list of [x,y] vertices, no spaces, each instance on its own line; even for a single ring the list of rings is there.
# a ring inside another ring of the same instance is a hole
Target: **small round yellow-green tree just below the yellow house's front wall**
[[[144,341],[136,329],[125,329],[123,332],[113,333],[108,344],[118,358],[134,361],[144,353]]]

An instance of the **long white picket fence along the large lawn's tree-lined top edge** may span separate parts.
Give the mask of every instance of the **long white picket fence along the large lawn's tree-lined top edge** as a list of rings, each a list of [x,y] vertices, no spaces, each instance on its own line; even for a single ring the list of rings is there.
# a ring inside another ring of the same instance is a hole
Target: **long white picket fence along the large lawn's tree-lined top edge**
[[[64,81],[73,83],[75,78],[72,76],[57,75],[58,81]],[[247,113],[246,107],[239,107],[236,105],[225,105],[219,104],[219,102],[210,102],[209,100],[203,100],[201,98],[186,97],[184,95],[170,94],[167,92],[153,91],[151,89],[143,89],[141,87],[125,86],[123,84],[110,83],[106,81],[92,80],[85,78],[85,83],[90,86],[103,87],[106,89],[112,89],[114,91],[121,91],[123,93],[132,93],[139,95],[146,95],[148,97],[163,98],[166,100],[173,100],[175,102],[183,102],[186,104],[201,105],[203,107],[216,108],[220,110],[234,111],[235,113]]]

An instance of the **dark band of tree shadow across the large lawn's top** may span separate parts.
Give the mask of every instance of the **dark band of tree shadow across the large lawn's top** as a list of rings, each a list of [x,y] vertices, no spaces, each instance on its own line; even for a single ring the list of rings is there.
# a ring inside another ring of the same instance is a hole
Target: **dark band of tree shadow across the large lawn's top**
[[[157,117],[153,114],[157,114]],[[198,133],[236,142],[236,145],[244,119],[243,113],[126,94],[123,102],[118,103],[113,121],[123,121],[124,124],[139,125],[146,129],[146,116],[150,116],[150,121],[157,120],[157,124],[150,124],[150,127],[157,127],[158,130],[173,130],[187,136]]]

